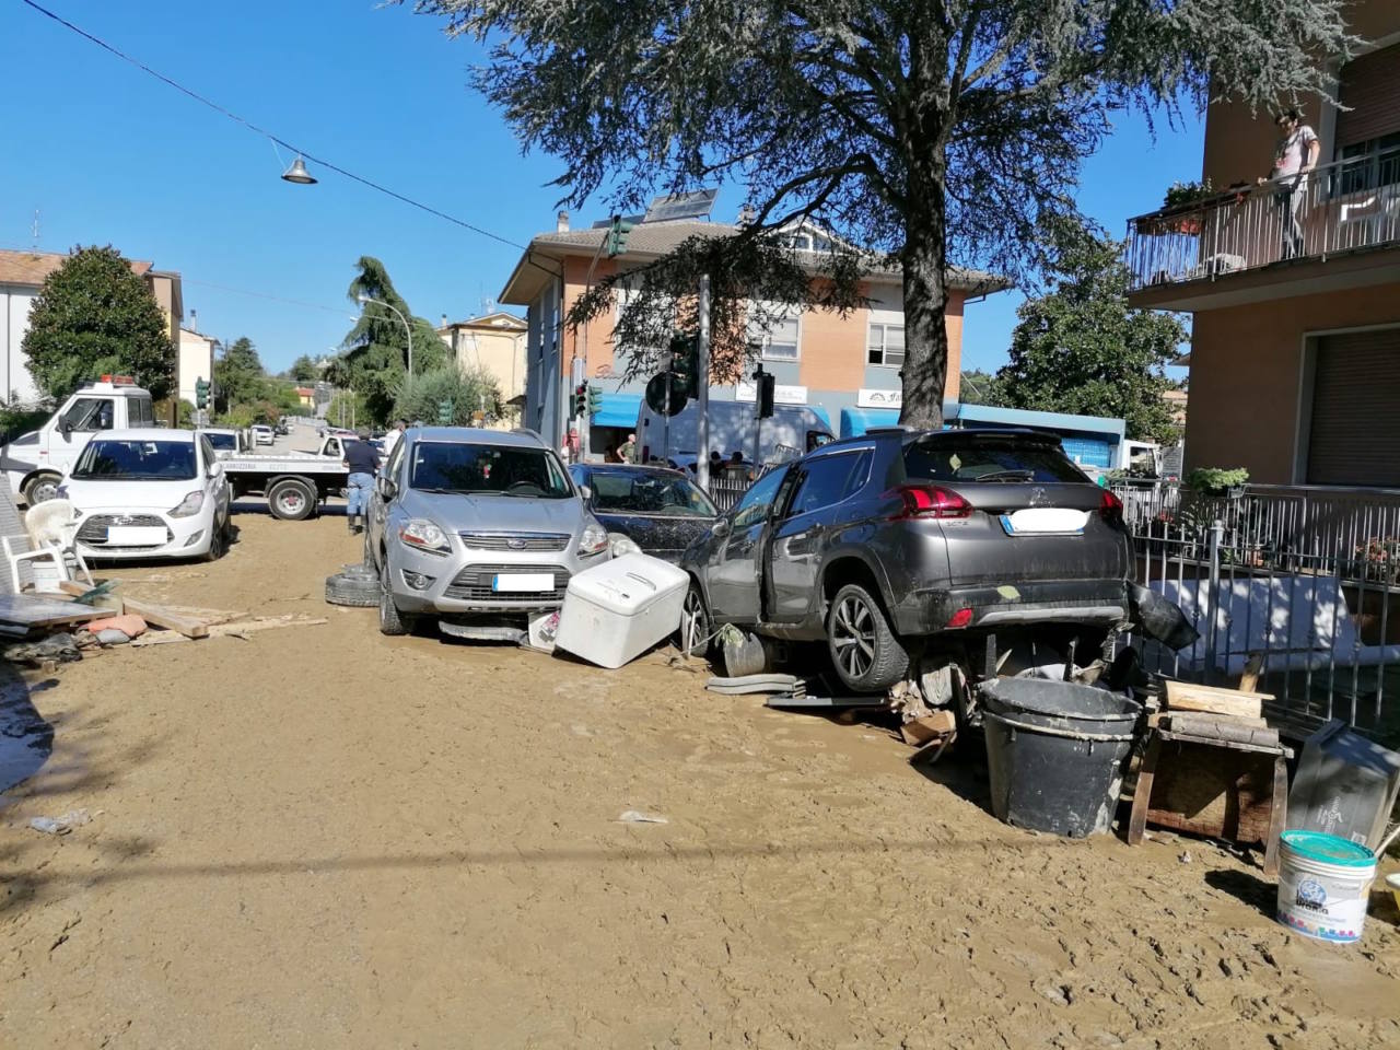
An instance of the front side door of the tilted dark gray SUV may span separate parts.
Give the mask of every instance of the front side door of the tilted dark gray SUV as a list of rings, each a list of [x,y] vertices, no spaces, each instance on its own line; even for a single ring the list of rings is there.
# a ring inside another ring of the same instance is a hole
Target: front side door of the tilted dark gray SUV
[[[812,609],[826,533],[837,524],[833,511],[864,483],[868,469],[869,452],[860,447],[798,462],[792,498],[769,542],[769,619],[801,620]]]

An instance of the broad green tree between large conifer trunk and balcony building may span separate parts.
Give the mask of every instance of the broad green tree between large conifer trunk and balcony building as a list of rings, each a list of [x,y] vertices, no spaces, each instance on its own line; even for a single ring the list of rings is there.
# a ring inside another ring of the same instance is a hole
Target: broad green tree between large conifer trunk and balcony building
[[[1128,307],[1120,241],[1068,220],[1043,239],[1054,288],[1018,311],[1011,360],[997,372],[1002,405],[1124,419],[1130,438],[1173,441],[1163,368],[1186,328],[1176,315]]]

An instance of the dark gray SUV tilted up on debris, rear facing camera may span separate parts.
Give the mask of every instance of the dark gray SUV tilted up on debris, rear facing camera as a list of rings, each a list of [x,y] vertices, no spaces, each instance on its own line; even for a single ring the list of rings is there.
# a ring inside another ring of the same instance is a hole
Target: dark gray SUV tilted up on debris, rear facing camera
[[[988,636],[1102,644],[1127,622],[1123,507],[1032,431],[874,431],[763,475],[682,559],[682,644],[714,623],[825,640],[844,685],[914,657],[976,678]]]

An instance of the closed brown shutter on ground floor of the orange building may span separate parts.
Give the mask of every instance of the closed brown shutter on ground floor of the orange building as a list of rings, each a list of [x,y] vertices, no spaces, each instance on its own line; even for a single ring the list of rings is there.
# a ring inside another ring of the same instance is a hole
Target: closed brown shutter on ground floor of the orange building
[[[1309,484],[1400,486],[1400,328],[1322,336]]]

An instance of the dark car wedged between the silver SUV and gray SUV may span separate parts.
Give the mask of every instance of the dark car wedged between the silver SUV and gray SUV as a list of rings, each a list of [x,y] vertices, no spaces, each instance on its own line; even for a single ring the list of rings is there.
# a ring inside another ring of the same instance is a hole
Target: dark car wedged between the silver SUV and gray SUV
[[[630,463],[575,463],[568,468],[584,504],[609,533],[622,533],[644,554],[680,561],[720,511],[679,470]]]

